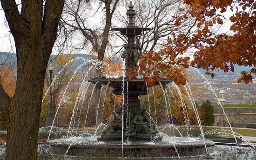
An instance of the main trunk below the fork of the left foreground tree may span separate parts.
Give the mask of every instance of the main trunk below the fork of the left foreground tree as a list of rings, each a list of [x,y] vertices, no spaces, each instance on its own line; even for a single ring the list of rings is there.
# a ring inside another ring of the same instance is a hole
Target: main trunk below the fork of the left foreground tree
[[[27,49],[24,50],[26,52]],[[38,52],[31,53],[32,55]],[[45,69],[37,56],[21,64],[16,90],[8,108],[7,160],[36,160],[37,136]]]

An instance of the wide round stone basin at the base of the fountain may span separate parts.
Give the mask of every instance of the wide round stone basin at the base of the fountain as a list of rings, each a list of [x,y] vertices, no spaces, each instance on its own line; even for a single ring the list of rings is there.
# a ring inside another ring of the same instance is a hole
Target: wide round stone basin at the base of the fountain
[[[205,142],[205,143],[204,143]],[[50,140],[53,153],[86,157],[188,157],[208,155],[215,143],[196,138],[163,137],[162,141],[98,141],[97,137]],[[123,148],[123,149],[122,149]]]

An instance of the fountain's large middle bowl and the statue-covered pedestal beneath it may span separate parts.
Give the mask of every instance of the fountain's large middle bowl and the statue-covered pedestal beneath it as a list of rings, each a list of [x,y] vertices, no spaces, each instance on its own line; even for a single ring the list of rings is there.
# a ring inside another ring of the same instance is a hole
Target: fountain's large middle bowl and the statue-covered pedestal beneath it
[[[162,137],[157,136],[157,129],[151,119],[149,111],[141,107],[138,96],[147,95],[147,85],[142,78],[128,77],[107,78],[104,76],[89,80],[97,85],[107,85],[115,88],[112,92],[116,95],[123,95],[123,105],[115,108],[113,120],[101,133],[99,140],[131,140],[131,141],[161,141]],[[164,79],[161,81],[163,87],[171,82]],[[158,83],[157,81],[155,82]]]

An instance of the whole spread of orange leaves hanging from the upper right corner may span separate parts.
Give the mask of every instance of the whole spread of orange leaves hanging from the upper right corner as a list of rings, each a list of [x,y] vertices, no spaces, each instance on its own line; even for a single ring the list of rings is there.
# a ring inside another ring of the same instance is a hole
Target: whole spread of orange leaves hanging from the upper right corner
[[[176,84],[185,84],[186,79],[180,67],[197,67],[206,70],[214,77],[213,70],[234,72],[234,65],[250,67],[243,71],[238,82],[252,82],[256,74],[256,2],[254,0],[183,0],[181,14],[176,17],[175,26],[188,16],[195,23],[183,33],[173,33],[164,47],[158,52],[150,51],[141,56],[139,66],[145,71],[143,78],[148,83],[167,77]],[[231,33],[216,33],[214,26],[226,21],[229,17]],[[230,12],[229,11],[229,12]],[[193,60],[184,53],[193,48]],[[166,71],[168,70],[168,72]],[[131,71],[133,75],[136,70]]]

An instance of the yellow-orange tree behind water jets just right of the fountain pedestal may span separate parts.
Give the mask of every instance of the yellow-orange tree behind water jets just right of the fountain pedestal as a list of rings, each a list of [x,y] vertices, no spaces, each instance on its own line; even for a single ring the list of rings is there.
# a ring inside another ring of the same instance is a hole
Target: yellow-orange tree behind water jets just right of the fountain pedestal
[[[180,90],[182,97],[186,99],[187,95],[182,85]],[[157,125],[164,125],[169,122],[175,125],[184,125],[182,102],[176,89],[171,86],[167,86],[164,93],[159,85],[150,87],[148,95],[141,96],[141,106],[151,111],[150,116]],[[186,104],[186,107],[189,108],[190,106]]]

